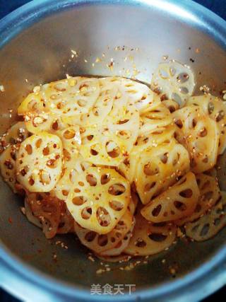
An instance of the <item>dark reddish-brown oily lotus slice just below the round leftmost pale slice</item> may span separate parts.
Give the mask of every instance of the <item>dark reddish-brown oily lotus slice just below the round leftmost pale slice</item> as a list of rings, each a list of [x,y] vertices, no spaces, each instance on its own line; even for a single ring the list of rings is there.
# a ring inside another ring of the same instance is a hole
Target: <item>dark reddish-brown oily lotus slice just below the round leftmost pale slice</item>
[[[65,209],[64,202],[57,197],[52,197],[48,193],[29,193],[25,199],[25,204],[30,207],[25,210],[29,220],[37,226],[40,221],[42,231],[47,238],[53,238],[57,234],[61,221],[62,207]],[[35,217],[35,220],[33,219]]]

